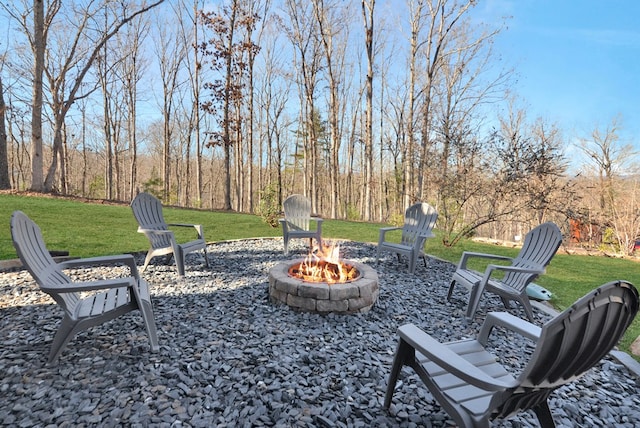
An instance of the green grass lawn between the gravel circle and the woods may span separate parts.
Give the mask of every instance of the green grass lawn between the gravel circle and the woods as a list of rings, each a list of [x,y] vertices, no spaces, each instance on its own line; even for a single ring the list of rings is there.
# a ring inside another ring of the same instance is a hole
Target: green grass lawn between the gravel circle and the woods
[[[64,198],[0,194],[0,260],[16,258],[11,242],[9,219],[15,210],[24,211],[42,229],[50,250],[66,250],[72,256],[91,257],[107,254],[146,251],[148,242],[135,233],[137,223],[131,209],[125,204],[89,203]],[[279,228],[268,226],[258,216],[232,212],[199,211],[165,207],[165,220],[169,223],[196,223],[204,226],[207,241],[224,241],[252,237],[279,237]],[[323,237],[349,239],[359,242],[377,242],[376,223],[325,220]],[[181,231],[188,234],[193,231]],[[436,230],[436,235],[438,231]],[[179,238],[191,238],[185,235]],[[399,235],[398,235],[399,236]],[[515,256],[516,248],[462,241],[454,248],[446,248],[437,237],[427,241],[428,254],[457,263],[463,251]],[[481,265],[473,266],[482,269]],[[564,309],[595,287],[614,279],[625,279],[640,286],[640,265],[629,259],[604,256],[569,255],[563,247],[551,261],[547,273],[536,282],[549,289],[552,304]],[[620,348],[628,351],[633,340],[640,335],[640,317],[634,320]]]

